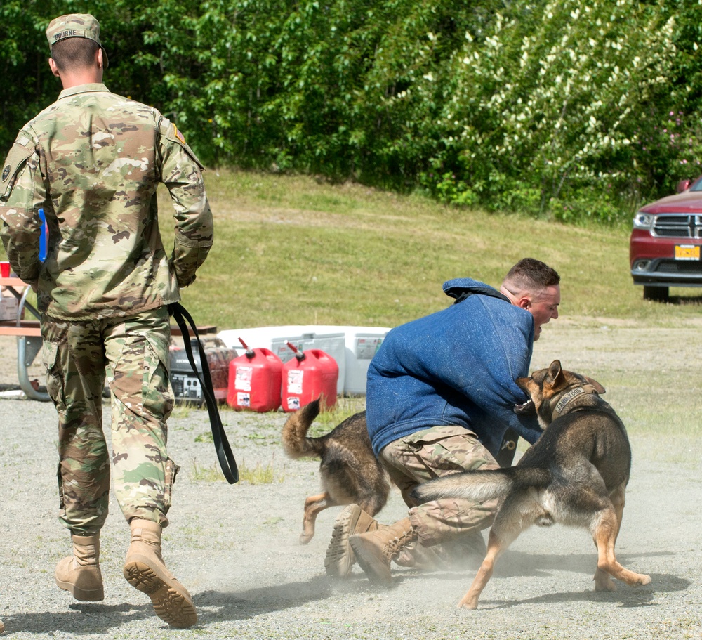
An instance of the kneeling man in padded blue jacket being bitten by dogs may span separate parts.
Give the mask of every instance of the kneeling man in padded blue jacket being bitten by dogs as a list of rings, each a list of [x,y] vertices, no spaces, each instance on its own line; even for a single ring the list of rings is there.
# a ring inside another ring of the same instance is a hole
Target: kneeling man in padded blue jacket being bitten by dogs
[[[496,501],[416,504],[409,494],[446,474],[508,466],[517,436],[534,443],[541,435],[535,416],[514,411],[528,400],[515,380],[529,374],[542,325],[558,317],[559,281],[532,258],[510,269],[499,292],[470,278],[449,280],[444,292],[453,306],[388,333],[368,370],[366,422],[409,516],[379,527],[357,505],[346,507],[327,551],[330,575],[348,575],[354,556],[384,584],[393,560],[425,568],[456,556],[482,560],[480,531],[491,525]]]

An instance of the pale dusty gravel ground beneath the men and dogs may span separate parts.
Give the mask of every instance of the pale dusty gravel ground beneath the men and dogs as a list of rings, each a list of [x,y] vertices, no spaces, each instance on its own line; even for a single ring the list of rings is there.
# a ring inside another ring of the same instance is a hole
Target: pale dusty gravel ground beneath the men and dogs
[[[609,383],[608,400],[626,412],[651,394],[642,381],[652,372],[656,388],[677,385],[681,358],[687,358],[694,363],[696,380],[682,392],[694,396],[691,415],[698,422],[701,328],[702,323],[646,329],[561,319],[545,327],[532,365],[546,366],[559,357],[564,367]],[[198,624],[185,631],[169,629],[153,615],[147,597],[121,576],[128,527],[114,500],[102,533],[105,601],[73,601],[53,579],[55,563],[69,550],[67,533],[56,518],[55,412],[50,403],[23,400],[11,391],[16,388],[14,343],[0,342],[0,440],[5,452],[0,466],[5,496],[0,617],[6,636],[702,638],[698,449],[689,455],[684,447],[667,447],[662,455],[661,440],[636,438],[635,425],[629,425],[635,460],[618,558],[651,575],[646,587],[621,585],[614,594],[593,592],[592,541],[583,530],[560,526],[533,528],[512,545],[475,612],[456,609],[472,580],[470,570],[417,573],[397,568],[395,586],[380,589],[370,587],[356,567],[350,580],[334,582],[324,574],[323,561],[339,509],[324,511],[312,542],[298,544],[303,501],[319,487],[318,465],[284,457],[279,429],[285,416],[222,411],[240,468],[260,464],[274,476],[271,483],[230,486],[208,478],[216,457],[207,438],[206,411],[179,408],[171,419],[169,448],[182,471],[169,514],[171,526],[164,532],[164,556],[193,594]],[[41,379],[38,370],[37,377]],[[635,389],[618,393],[612,380]],[[380,520],[395,521],[405,513],[394,492]]]

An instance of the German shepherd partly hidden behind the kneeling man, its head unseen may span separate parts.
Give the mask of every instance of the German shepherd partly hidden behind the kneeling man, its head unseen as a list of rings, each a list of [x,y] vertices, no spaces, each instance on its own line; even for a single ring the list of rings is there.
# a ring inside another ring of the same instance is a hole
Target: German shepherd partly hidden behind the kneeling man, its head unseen
[[[366,412],[345,419],[319,438],[307,437],[307,429],[319,415],[319,398],[305,405],[287,419],[282,442],[286,455],[296,459],[319,457],[322,493],[305,500],[305,518],[300,543],[314,536],[314,521],[324,509],[358,504],[370,516],[385,507],[390,493],[388,475],[371,448],[366,430]]]

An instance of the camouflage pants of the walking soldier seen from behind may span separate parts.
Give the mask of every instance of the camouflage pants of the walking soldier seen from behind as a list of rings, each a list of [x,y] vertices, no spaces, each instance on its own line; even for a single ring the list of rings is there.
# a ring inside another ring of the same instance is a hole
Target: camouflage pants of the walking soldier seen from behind
[[[58,411],[60,520],[79,535],[107,518],[110,461],[102,430],[105,376],[112,405],[114,492],[127,521],[168,524],[178,467],[168,459],[166,419],[171,325],[166,307],[129,318],[41,320],[46,388]]]

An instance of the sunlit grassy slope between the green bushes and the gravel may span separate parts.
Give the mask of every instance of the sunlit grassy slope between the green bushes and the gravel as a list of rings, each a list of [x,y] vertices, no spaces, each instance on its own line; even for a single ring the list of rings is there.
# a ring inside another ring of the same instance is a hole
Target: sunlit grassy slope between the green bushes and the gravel
[[[219,329],[395,326],[446,307],[445,280],[499,285],[524,256],[559,271],[564,316],[676,326],[702,306],[698,289],[671,289],[668,304],[642,299],[629,275],[628,228],[452,209],[304,176],[218,170],[206,185],[216,240],[183,301],[197,322]],[[161,198],[168,246],[170,204]]]

